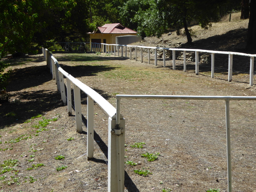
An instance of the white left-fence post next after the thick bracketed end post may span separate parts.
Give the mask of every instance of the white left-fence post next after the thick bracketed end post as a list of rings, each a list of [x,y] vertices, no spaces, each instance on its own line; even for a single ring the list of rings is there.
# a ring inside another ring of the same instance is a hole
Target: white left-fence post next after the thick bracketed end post
[[[94,141],[94,101],[87,95],[87,159],[93,158],[93,141]]]

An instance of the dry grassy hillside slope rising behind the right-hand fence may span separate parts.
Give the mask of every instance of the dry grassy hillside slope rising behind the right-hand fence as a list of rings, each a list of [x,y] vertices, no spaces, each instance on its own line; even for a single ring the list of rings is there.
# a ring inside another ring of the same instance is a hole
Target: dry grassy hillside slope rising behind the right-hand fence
[[[163,34],[160,39],[146,37],[141,45],[244,52],[249,19],[240,20],[240,14],[240,12],[233,13],[230,22],[229,15],[226,15],[219,22],[212,23],[212,27],[208,30],[198,25],[191,26],[190,29],[196,35],[192,37],[193,45],[186,44],[187,37],[183,34],[184,28],[181,29],[182,35],[180,36],[172,31]]]

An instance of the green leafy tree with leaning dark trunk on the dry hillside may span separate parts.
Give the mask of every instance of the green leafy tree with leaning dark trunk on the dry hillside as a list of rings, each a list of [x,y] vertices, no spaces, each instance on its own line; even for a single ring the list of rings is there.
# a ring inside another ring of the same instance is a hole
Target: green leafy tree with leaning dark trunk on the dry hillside
[[[218,3],[221,0],[128,0],[121,12],[124,18],[138,23],[138,32],[158,38],[169,28],[179,31],[184,27],[188,44],[192,43],[188,24],[192,21],[202,28],[211,27],[210,20],[219,16]],[[140,3],[139,3],[140,2]],[[164,6],[163,6],[164,5]],[[130,16],[130,17],[129,17]]]

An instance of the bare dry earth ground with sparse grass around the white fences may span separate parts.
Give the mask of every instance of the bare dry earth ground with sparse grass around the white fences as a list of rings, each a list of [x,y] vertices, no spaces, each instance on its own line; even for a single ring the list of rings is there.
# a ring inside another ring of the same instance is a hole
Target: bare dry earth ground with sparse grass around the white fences
[[[209,70],[199,68],[200,75],[196,76],[192,69],[172,70],[171,61],[163,68],[159,60],[155,67],[153,60],[147,63],[147,56],[141,63],[140,58],[135,61],[105,54],[53,55],[64,70],[113,106],[116,94],[256,95],[255,85],[248,84],[248,74],[235,74],[229,83],[224,72],[211,78]],[[177,60],[178,67],[182,64],[182,60]],[[108,116],[95,104],[94,158],[87,161],[86,127],[83,125],[82,134],[76,133],[75,116],[68,116],[67,106],[62,106],[43,55],[13,59],[11,67],[13,73],[7,88],[10,102],[0,104],[0,191],[108,191]],[[81,93],[81,98],[86,123],[86,95]],[[121,103],[126,128],[125,159],[141,162],[125,165],[126,192],[161,192],[164,188],[176,192],[203,192],[209,188],[227,191],[224,101],[123,99]],[[255,192],[256,103],[230,103],[232,188],[234,192]],[[33,126],[43,116],[30,118],[37,114],[58,119],[51,121],[46,130],[36,132],[40,128]],[[132,148],[130,145],[135,142],[146,144],[144,148]],[[159,152],[160,156],[148,162],[141,157],[146,152]],[[60,155],[65,159],[55,160]],[[18,162],[9,165],[13,170],[3,173],[7,166],[4,161],[8,159]],[[33,164],[34,169],[26,170]],[[36,168],[38,164],[44,166]],[[62,165],[67,168],[57,171]],[[135,174],[135,169],[146,169],[152,174],[143,177]]]

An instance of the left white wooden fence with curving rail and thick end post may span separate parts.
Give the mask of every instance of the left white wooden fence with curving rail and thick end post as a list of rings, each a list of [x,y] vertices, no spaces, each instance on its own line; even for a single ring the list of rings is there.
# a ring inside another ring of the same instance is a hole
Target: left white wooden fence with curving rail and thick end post
[[[64,71],[52,54],[42,47],[47,66],[55,79],[57,89],[61,93],[61,100],[64,105],[68,105],[68,115],[72,115],[71,83],[74,86],[76,132],[82,132],[82,113],[80,91],[87,94],[87,159],[93,158],[93,138],[94,138],[94,113],[93,106],[96,102],[108,114],[108,192],[124,191],[124,118],[119,119],[116,126],[116,108],[114,108],[99,93],[83,84]],[[67,89],[65,89],[64,76],[67,79]],[[66,96],[67,93],[67,96]],[[120,116],[119,116],[120,117]],[[118,188],[116,187],[118,186]]]

